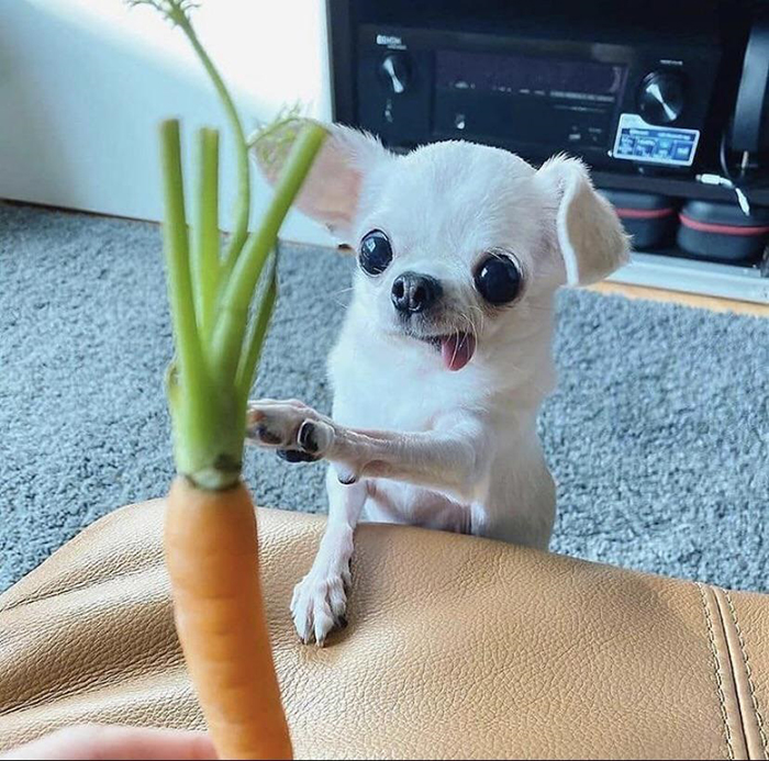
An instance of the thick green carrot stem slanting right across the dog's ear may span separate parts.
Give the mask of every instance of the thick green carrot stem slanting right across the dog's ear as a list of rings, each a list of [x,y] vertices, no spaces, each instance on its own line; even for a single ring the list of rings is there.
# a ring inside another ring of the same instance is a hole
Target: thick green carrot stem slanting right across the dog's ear
[[[326,134],[325,128],[314,122],[308,122],[302,127],[286,159],[259,230],[249,235],[230,279],[222,283],[220,310],[213,333],[212,361],[224,378],[235,380],[254,289],[265,261],[275,247],[280,225]]]

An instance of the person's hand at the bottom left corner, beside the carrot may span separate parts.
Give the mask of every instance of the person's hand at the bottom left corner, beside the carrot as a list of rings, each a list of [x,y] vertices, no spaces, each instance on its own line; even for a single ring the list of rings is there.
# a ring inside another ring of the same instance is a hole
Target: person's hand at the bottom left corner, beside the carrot
[[[83,725],[65,727],[14,748],[5,759],[215,759],[205,732]]]

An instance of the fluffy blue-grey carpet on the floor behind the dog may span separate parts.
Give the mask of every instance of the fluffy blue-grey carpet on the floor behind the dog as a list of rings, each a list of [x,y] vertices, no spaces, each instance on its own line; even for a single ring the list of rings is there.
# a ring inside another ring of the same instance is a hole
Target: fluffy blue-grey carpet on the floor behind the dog
[[[151,224],[0,204],[0,589],[168,484],[159,245]],[[350,267],[286,247],[260,394],[328,409]],[[565,292],[556,350],[555,549],[769,590],[769,320]],[[260,504],[324,510],[322,465],[249,452],[246,474]]]

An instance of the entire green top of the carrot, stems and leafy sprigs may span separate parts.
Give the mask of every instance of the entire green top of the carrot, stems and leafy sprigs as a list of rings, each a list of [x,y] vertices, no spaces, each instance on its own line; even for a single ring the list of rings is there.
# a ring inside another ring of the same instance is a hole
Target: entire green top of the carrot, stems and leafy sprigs
[[[166,373],[174,455],[178,472],[197,486],[222,490],[241,478],[247,396],[277,299],[278,232],[326,131],[297,119],[294,108],[256,137],[254,149],[265,166],[276,170],[278,181],[258,228],[249,233],[249,144],[233,100],[192,27],[189,11],[197,3],[131,0],[130,4],[151,5],[182,30],[219,94],[234,136],[237,200],[233,232],[222,251],[219,132],[207,127],[197,135],[194,224],[190,230],[179,122],[160,124],[164,251],[176,348]],[[258,291],[268,260],[266,280]]]

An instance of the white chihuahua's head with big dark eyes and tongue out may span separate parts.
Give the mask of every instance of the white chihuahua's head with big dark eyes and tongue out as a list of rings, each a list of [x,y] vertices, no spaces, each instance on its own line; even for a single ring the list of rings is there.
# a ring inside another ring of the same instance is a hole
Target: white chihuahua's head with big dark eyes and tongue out
[[[424,343],[450,370],[525,334],[559,286],[600,280],[628,249],[579,160],[535,170],[465,142],[397,156],[334,126],[297,205],[356,251],[354,303],[370,328]]]

